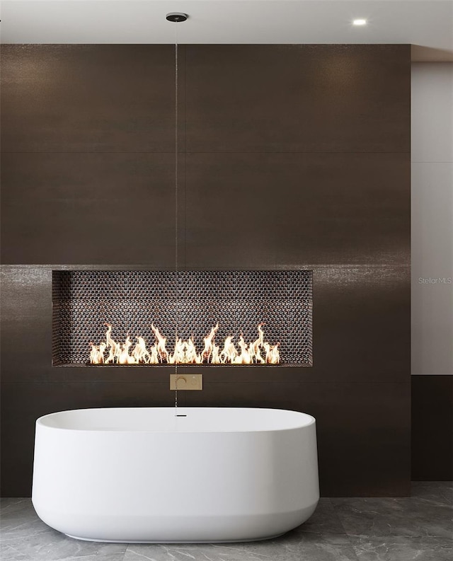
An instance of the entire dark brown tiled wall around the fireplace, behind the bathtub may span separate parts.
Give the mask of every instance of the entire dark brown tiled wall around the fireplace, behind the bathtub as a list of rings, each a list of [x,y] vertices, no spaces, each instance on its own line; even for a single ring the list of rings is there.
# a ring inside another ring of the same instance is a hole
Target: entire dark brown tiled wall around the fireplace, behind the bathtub
[[[2,66],[2,493],[26,496],[38,416],[173,404],[171,369],[51,366],[52,269],[174,265],[173,47]],[[409,492],[409,83],[408,45],[180,46],[179,265],[313,270],[314,366],[205,367],[179,403],[315,415],[323,495]]]

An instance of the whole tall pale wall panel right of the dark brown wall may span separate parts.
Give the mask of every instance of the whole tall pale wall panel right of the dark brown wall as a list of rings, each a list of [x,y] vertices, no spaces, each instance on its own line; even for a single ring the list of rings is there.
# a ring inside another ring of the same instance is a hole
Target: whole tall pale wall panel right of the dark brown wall
[[[412,66],[412,373],[453,374],[453,64]]]

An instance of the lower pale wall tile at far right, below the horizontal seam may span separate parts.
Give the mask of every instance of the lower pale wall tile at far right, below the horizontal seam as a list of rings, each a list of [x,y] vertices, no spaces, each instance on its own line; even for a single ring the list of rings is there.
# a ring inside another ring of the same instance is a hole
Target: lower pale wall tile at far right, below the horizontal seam
[[[453,374],[453,163],[412,164],[412,372]]]

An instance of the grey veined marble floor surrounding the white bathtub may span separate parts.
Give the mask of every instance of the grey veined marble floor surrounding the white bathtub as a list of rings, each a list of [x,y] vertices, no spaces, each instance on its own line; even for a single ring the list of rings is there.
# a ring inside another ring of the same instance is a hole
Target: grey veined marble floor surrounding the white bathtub
[[[414,482],[409,498],[321,499],[274,540],[121,544],[73,540],[43,524],[30,499],[1,499],[1,561],[452,561],[453,484]]]

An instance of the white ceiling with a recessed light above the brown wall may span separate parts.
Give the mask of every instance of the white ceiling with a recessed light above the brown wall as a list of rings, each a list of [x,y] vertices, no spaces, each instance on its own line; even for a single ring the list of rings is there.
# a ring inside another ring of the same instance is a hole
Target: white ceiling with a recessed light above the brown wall
[[[411,43],[453,61],[453,0],[3,0],[0,25],[4,43]]]

